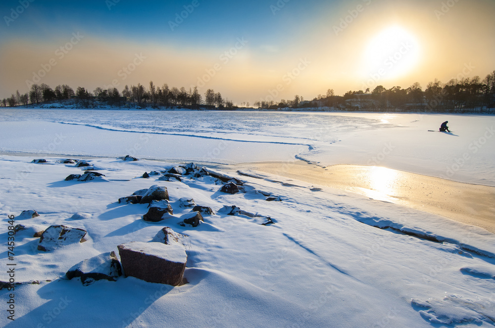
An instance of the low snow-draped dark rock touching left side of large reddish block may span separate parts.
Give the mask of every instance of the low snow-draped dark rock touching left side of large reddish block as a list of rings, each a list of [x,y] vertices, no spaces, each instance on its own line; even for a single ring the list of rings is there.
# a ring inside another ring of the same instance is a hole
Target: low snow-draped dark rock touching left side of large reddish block
[[[93,284],[97,280],[116,281],[122,276],[122,268],[114,251],[102,253],[74,265],[65,274],[70,280],[81,277],[83,286]]]

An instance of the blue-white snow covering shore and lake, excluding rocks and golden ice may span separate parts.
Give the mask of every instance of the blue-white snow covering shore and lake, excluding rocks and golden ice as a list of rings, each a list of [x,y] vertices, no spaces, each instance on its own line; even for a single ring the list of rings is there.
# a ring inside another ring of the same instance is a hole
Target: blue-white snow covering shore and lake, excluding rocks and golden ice
[[[428,132],[444,121],[452,133]],[[181,181],[142,175],[178,163],[217,170],[214,163],[302,159],[495,186],[494,126],[493,116],[468,115],[2,111],[0,281],[15,263],[23,284],[0,290],[0,326],[493,327],[495,235],[484,229],[275,175],[240,175],[235,165],[222,171],[244,183],[233,195],[199,171]],[[118,159],[125,155],[141,160]],[[47,163],[31,163],[41,158]],[[105,176],[64,181],[84,173],[60,163],[66,158]],[[173,215],[163,221],[144,221],[145,204],[117,202],[152,185],[170,195]],[[191,212],[184,199],[215,213],[181,226]],[[244,212],[221,210],[232,205]],[[15,235],[13,260],[7,215],[27,227]],[[263,225],[268,217],[273,224]],[[38,250],[33,232],[53,224],[84,229],[87,241]],[[118,256],[117,245],[149,242],[165,226],[184,236],[188,284],[120,277],[83,286],[65,276],[84,259]],[[15,321],[5,311],[11,298]]]

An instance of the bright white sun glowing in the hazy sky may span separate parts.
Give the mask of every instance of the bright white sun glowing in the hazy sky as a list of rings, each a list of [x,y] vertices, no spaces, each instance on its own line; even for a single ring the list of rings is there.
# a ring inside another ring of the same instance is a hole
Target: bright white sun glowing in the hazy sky
[[[366,78],[378,82],[402,77],[420,61],[417,38],[400,26],[391,26],[368,41],[363,66]],[[380,84],[380,83],[378,83]]]

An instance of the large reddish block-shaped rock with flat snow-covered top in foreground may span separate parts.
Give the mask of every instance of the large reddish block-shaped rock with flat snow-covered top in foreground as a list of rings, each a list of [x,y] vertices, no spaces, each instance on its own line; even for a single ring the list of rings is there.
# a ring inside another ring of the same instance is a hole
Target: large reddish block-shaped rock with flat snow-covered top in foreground
[[[182,283],[187,262],[184,247],[154,242],[130,242],[117,248],[126,276],[172,286]]]

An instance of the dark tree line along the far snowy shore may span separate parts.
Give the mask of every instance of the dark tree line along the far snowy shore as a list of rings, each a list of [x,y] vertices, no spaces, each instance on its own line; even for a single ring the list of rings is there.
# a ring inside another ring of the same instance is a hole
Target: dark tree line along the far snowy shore
[[[360,106],[352,105],[359,102]],[[116,87],[103,89],[97,87],[90,92],[84,87],[78,86],[76,90],[67,84],[59,84],[52,89],[49,85],[42,83],[33,84],[31,89],[21,94],[18,90],[8,98],[1,100],[2,107],[24,106],[29,104],[40,104],[42,102],[61,101],[74,99],[81,107],[87,107],[91,100],[98,99],[108,105],[122,105],[141,107],[151,106],[182,106],[197,109],[199,106],[205,108],[234,108],[232,101],[223,99],[220,92],[207,89],[202,95],[198,87],[186,90],[185,87],[169,87],[167,83],[161,87],[152,81],[146,88],[141,83],[137,85],[125,85],[122,92]],[[333,89],[328,89],[325,95],[319,94],[311,101],[304,101],[302,96],[296,95],[293,100],[282,99],[279,102],[257,101],[254,108],[278,109],[278,108],[311,108],[311,107],[334,107],[344,109],[366,109],[387,110],[390,108],[410,108],[426,111],[461,110],[474,108],[493,108],[495,104],[495,71],[488,74],[483,80],[479,76],[473,78],[451,79],[442,83],[438,79],[429,82],[423,91],[420,83],[415,82],[406,89],[394,86],[390,89],[383,85],[377,85],[373,90],[349,90],[343,96],[337,96]],[[242,107],[249,107],[249,102],[243,102]]]

